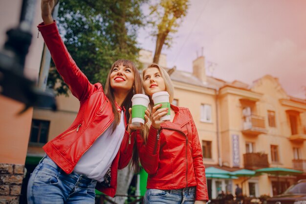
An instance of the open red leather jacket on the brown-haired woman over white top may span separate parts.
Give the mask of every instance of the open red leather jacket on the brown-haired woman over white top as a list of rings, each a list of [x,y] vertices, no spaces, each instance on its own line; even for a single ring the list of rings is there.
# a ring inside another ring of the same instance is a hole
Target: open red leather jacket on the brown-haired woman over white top
[[[46,154],[67,174],[70,174],[78,160],[93,142],[109,128],[114,120],[109,99],[100,83],[90,84],[84,73],[77,67],[64,45],[56,23],[39,24],[38,29],[50,50],[58,72],[69,86],[72,94],[80,101],[79,112],[71,126],[62,134],[46,143]],[[127,124],[126,118],[125,123]],[[114,197],[117,187],[117,169],[126,167],[131,159],[134,135],[126,131],[120,150],[111,164],[110,187],[96,188]],[[129,144],[130,139],[130,144]]]

